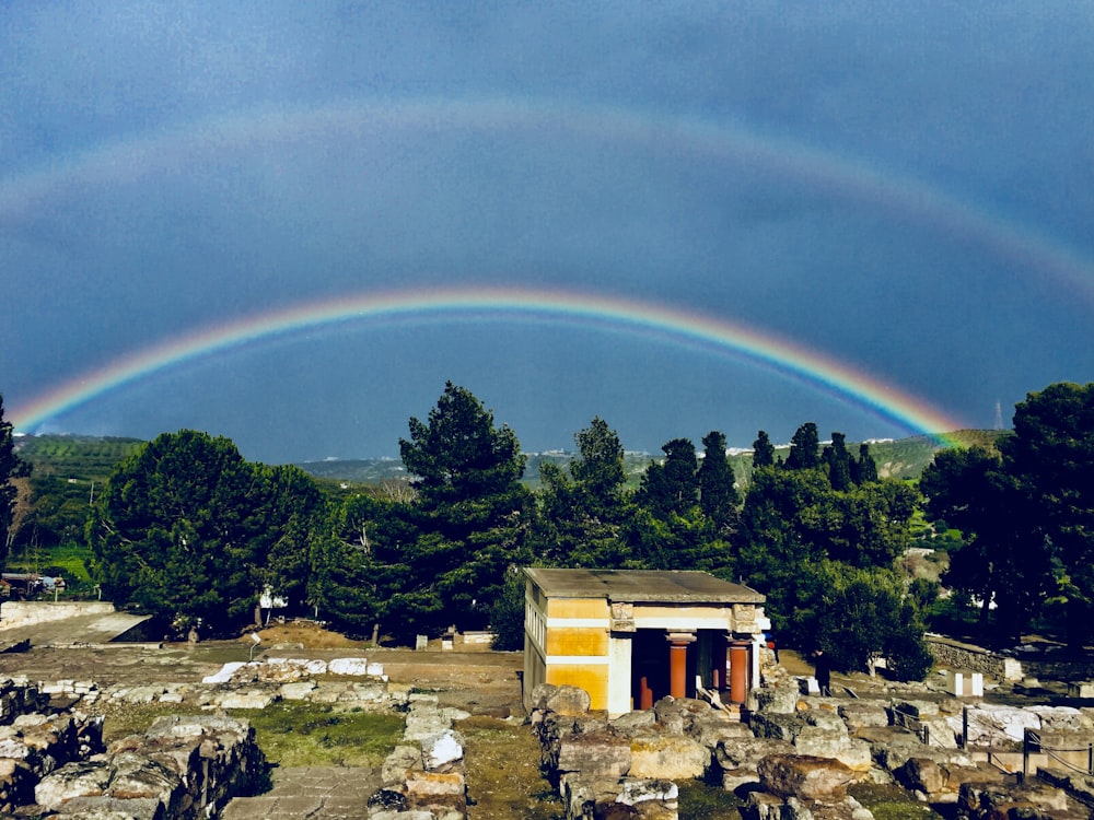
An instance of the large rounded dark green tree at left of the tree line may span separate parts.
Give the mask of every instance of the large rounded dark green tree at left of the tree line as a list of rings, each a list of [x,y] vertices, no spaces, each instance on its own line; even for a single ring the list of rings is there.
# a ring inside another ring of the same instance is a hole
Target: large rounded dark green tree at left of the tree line
[[[228,438],[159,436],[118,466],[89,525],[104,595],[213,631],[237,625],[266,584],[300,584],[291,553],[306,554],[318,501],[309,481],[244,461]]]

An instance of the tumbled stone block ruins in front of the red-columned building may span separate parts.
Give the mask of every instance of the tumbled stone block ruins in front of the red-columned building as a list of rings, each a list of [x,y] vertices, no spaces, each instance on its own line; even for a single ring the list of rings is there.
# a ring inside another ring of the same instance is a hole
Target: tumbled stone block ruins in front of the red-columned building
[[[1057,741],[1087,748],[1094,712],[978,704],[986,714],[968,723],[996,727],[989,762],[958,748],[964,702],[927,699],[913,686],[905,698],[899,691],[876,700],[821,698],[802,695],[791,679],[756,690],[745,721],[706,701],[673,698],[608,719],[589,712],[583,690],[545,684],[532,694],[531,721],[568,820],[676,820],[677,783],[689,778],[734,793],[744,820],[870,820],[849,793],[858,783],[901,786],[924,804],[947,805],[947,816],[961,820],[1090,816],[1075,789],[1051,784],[1047,772],[1023,780],[1000,760],[1016,749],[1021,765],[1016,727],[1034,723]],[[916,694],[922,699],[907,696]],[[908,721],[915,731],[899,725]]]

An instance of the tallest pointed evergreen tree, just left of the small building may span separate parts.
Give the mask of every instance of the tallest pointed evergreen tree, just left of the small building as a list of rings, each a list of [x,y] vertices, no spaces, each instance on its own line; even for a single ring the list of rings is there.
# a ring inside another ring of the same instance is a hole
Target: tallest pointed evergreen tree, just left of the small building
[[[407,557],[412,582],[393,605],[401,605],[407,629],[481,629],[505,571],[526,560],[526,459],[513,431],[494,427],[493,413],[451,382],[428,423],[411,418],[409,426],[399,450],[417,477],[419,535]]]

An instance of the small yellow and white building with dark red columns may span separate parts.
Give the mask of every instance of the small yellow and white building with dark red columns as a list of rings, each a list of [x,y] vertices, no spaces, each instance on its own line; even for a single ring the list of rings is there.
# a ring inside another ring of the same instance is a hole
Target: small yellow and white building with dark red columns
[[[764,596],[703,572],[528,569],[524,698],[575,686],[609,716],[697,687],[742,704],[759,683]]]

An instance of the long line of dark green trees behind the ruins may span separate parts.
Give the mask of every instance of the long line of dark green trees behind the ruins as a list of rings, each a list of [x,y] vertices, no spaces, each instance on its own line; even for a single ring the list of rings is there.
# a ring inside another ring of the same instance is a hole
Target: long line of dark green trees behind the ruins
[[[1031,394],[1001,456],[942,450],[924,473],[928,511],[966,532],[945,581],[1005,599],[998,618],[1008,623],[1046,590],[1092,607],[1092,564],[1080,563],[1092,552],[1090,520],[1073,515],[1075,502],[1087,516],[1094,508],[1081,481],[1094,459],[1092,394]],[[895,569],[920,496],[878,478],[868,446],[852,454],[840,433],[822,446],[806,423],[777,459],[760,431],[742,496],[718,431],[700,453],[686,438],[666,443],[633,489],[606,421],[574,440],[575,457],[543,462],[532,493],[515,433],[450,383],[399,442],[411,484],[329,493],[295,467],[245,461],[226,438],[164,434],[98,494],[86,527],[92,570],[104,595],[213,632],[251,621],[267,589],[357,634],[491,628],[514,648],[521,566],[703,570],[764,593],[778,639],[823,648],[836,668],[880,655],[901,677],[929,668],[923,616],[936,587],[909,586]],[[0,435],[0,459],[2,445]],[[1045,482],[1068,477],[1063,500],[1040,497]]]

